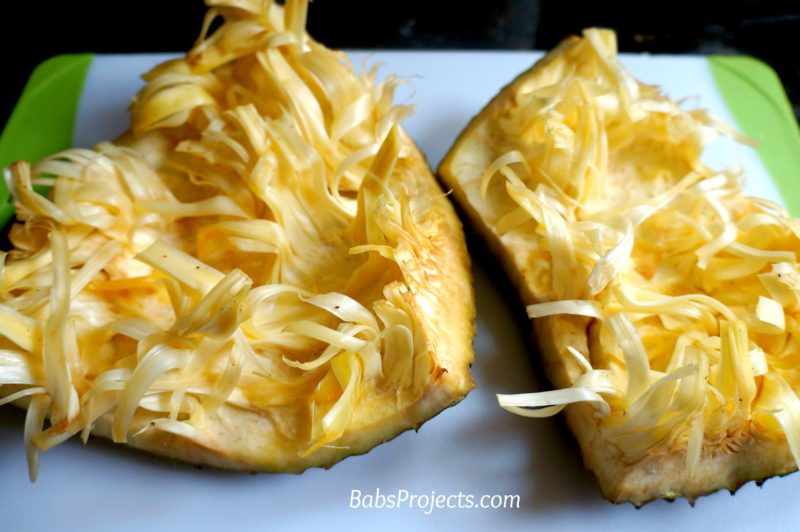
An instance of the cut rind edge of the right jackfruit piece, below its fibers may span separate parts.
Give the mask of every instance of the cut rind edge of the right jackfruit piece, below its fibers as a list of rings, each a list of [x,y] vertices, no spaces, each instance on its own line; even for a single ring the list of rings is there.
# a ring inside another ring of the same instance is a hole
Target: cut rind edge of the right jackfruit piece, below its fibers
[[[491,212],[478,191],[485,169],[502,153],[495,148],[502,139],[496,122],[516,107],[521,90],[541,86],[551,75],[550,66],[563,60],[581,42],[576,36],[564,39],[530,69],[519,74],[501,89],[475,115],[460,133],[437,169],[437,176],[467,218],[470,228],[482,238],[519,294],[523,305],[546,301],[552,263],[531,263],[527,251],[503,242],[489,222]],[[588,318],[558,315],[532,320],[542,366],[554,388],[571,386],[582,369],[567,351],[572,346],[584,354],[600,349],[592,341]],[[601,355],[602,356],[602,355]],[[703,495],[721,489],[735,492],[751,480],[761,482],[797,470],[785,438],[765,438],[763,433],[744,434],[735,449],[704,446],[694,478],[686,474],[685,450],[648,454],[630,462],[600,430],[595,410],[585,403],[574,403],[564,410],[567,425],[577,440],[584,466],[597,479],[602,496],[612,503],[631,503],[640,507],[655,499],[686,498],[691,504]]]

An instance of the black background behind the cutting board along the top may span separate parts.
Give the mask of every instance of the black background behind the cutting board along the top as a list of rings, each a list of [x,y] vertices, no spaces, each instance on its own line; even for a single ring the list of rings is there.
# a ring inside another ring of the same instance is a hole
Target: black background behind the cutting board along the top
[[[184,51],[205,9],[201,0],[4,2],[0,124],[42,60]],[[605,26],[617,31],[621,51],[752,55],[778,72],[800,116],[800,2],[316,0],[309,11],[310,33],[333,48],[544,50]]]

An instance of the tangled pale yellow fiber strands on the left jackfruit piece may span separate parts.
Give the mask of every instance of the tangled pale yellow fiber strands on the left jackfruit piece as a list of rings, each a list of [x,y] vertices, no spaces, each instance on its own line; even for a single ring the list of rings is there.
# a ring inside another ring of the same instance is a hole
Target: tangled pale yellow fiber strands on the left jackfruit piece
[[[430,245],[390,183],[413,111],[392,104],[400,80],[310,40],[304,0],[208,3],[194,48],[144,76],[133,140],[5,171],[21,223],[0,270],[0,403],[27,402],[31,479],[40,449],[101,416],[115,441],[138,410],[155,416],[140,432],[202,441],[222,405],[300,405],[307,427],[283,436],[309,454],[360,395],[402,406],[429,380],[393,258]]]

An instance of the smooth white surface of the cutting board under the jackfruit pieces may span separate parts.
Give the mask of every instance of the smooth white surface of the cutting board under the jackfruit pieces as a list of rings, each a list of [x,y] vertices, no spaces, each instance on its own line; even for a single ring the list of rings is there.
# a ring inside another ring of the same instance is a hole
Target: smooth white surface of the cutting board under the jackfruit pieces
[[[414,101],[406,129],[435,167],[467,121],[501,86],[529,67],[534,52],[373,52],[384,74],[414,86],[398,99]],[[360,65],[367,54],[351,54]],[[89,147],[122,133],[138,74],[165,55],[97,57],[76,124],[76,144]],[[688,105],[730,116],[713,88],[705,60],[624,56],[645,82],[662,85]],[[751,190],[778,199],[752,150],[715,146],[710,162],[741,164]],[[719,165],[717,165],[719,166]],[[786,529],[800,516],[793,493],[800,475],[752,482],[735,496],[656,501],[636,510],[600,498],[581,466],[560,418],[532,420],[501,410],[496,393],[539,389],[526,354],[528,324],[516,295],[478,242],[475,262],[478,334],[473,374],[480,388],[462,403],[364,456],[303,475],[245,475],[173,464],[149,455],[76,438],[43,453],[30,484],[22,444],[23,414],[0,408],[0,529],[2,530],[752,530]],[[529,347],[529,346],[528,346]],[[519,509],[351,509],[351,490],[364,494],[518,494]]]

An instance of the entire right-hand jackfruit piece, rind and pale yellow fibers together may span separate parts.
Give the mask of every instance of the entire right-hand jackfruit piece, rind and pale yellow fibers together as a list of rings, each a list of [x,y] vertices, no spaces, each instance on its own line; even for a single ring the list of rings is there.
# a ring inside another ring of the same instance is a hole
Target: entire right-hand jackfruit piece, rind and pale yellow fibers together
[[[547,406],[508,406],[523,415],[567,405],[613,502],[693,500],[790,472],[797,221],[703,166],[705,142],[730,130],[635,82],[615,51],[607,31],[565,40],[438,169],[540,316],[543,366],[567,390],[501,402]]]

